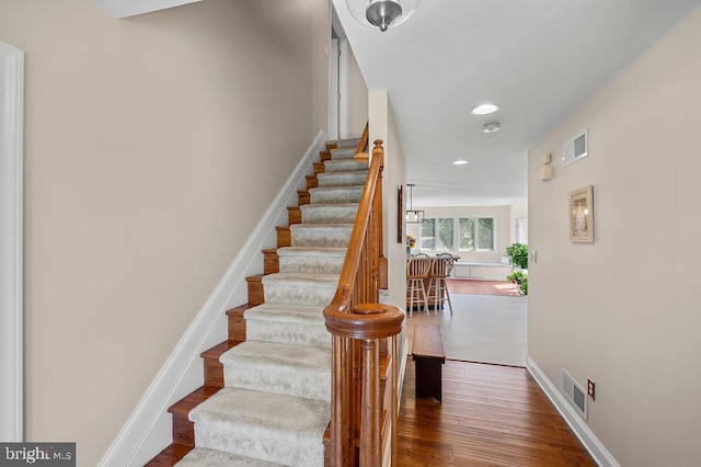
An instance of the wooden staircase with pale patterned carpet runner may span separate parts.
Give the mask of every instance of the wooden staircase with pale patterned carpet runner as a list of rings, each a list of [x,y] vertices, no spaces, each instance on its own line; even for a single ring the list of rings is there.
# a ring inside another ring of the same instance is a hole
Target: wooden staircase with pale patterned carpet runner
[[[368,164],[357,139],[327,144],[278,227],[249,303],[227,311],[229,340],[202,354],[205,386],[173,405],[173,444],[148,465],[322,466],[331,420],[331,334]],[[326,463],[327,453],[326,453]]]

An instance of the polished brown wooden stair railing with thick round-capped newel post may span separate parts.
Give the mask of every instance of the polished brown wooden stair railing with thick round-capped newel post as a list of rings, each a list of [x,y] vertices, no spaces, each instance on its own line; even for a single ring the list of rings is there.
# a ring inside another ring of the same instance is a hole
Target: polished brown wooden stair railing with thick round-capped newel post
[[[367,138],[367,137],[366,137]],[[332,333],[331,464],[382,464],[380,353],[391,348],[390,448],[397,465],[397,335],[404,314],[379,304],[382,247],[382,141],[376,140],[338,287],[324,309]],[[386,271],[384,271],[386,273]],[[387,281],[384,281],[386,283]],[[388,381],[389,383],[389,381]],[[359,449],[359,451],[358,451]]]

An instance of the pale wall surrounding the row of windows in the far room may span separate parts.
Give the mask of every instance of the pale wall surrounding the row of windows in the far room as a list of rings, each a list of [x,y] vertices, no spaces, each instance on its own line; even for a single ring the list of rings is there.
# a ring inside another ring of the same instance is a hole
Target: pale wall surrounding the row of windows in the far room
[[[506,255],[506,247],[509,246],[509,206],[461,206],[461,207],[421,207],[414,206],[416,209],[424,209],[426,218],[430,217],[494,217],[496,223],[495,250],[493,252],[467,252],[453,251],[453,254],[460,257],[460,261],[481,262],[481,263],[498,263],[501,257]],[[415,239],[421,236],[421,226],[418,224],[409,224],[407,231]],[[413,250],[421,252],[418,246]]]

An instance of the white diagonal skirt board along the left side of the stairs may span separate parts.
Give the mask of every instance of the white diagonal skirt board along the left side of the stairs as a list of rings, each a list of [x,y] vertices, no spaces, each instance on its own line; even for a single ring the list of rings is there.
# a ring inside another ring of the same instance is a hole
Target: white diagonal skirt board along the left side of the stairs
[[[142,466],[172,442],[172,420],[168,408],[203,385],[199,354],[226,340],[227,317],[223,311],[246,301],[245,277],[262,272],[262,250],[275,244],[275,227],[287,223],[287,206],[296,205],[297,190],[306,186],[306,175],[311,170],[313,158],[322,150],[325,137],[324,132],[319,132],[100,460],[100,466]]]

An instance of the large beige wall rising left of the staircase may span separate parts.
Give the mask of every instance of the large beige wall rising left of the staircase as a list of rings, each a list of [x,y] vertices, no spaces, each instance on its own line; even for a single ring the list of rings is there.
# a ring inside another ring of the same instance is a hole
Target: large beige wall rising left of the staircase
[[[1,10],[26,52],[25,438],[95,465],[325,129],[329,7]]]

